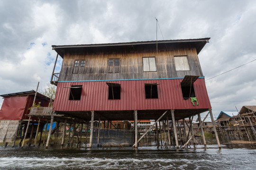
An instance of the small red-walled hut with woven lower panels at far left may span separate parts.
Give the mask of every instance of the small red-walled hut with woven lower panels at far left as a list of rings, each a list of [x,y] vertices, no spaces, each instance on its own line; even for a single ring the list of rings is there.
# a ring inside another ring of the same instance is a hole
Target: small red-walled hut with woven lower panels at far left
[[[3,104],[0,110],[0,143],[15,142],[19,127],[24,127],[28,122],[28,114],[33,106],[36,92],[34,90],[18,93],[2,94]],[[49,105],[50,98],[37,93],[35,103],[40,103],[41,107]],[[32,123],[37,122],[37,118],[32,117]],[[24,130],[27,126],[25,126]],[[31,131],[29,126],[28,133]],[[36,125],[33,132],[36,132]]]

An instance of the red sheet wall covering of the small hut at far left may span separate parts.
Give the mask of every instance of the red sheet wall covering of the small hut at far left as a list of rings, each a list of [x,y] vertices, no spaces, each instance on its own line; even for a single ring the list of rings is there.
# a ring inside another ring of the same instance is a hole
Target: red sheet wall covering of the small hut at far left
[[[20,120],[22,118],[27,96],[4,98],[0,110],[0,120]]]

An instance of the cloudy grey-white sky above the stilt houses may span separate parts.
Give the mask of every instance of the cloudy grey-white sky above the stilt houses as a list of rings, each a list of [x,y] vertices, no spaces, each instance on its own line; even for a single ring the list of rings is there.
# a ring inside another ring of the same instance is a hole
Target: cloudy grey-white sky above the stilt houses
[[[0,0],[0,94],[44,89],[51,45],[152,41],[155,17],[165,40],[210,37],[199,59],[216,117],[256,105],[255,0]]]

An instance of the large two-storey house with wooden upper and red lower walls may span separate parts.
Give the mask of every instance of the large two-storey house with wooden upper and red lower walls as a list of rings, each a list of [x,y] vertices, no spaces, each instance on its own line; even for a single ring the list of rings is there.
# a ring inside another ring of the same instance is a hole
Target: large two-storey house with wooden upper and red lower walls
[[[209,39],[52,45],[63,59],[51,79],[57,85],[54,111],[84,120],[135,122],[209,111],[198,59]]]

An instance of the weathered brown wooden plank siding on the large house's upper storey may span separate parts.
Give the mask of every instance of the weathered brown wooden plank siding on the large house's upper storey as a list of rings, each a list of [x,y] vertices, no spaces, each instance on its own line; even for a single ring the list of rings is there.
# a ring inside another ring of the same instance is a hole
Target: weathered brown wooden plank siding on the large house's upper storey
[[[176,71],[174,56],[187,56],[190,70]],[[143,71],[143,57],[155,57],[156,71]],[[114,68],[119,69],[118,73],[109,68],[109,59],[120,59],[119,68]],[[80,62],[86,60],[85,67],[75,68],[75,60],[80,60]],[[185,75],[203,76],[195,48],[159,50],[158,54],[152,49],[123,52],[99,51],[84,54],[66,53],[59,81],[176,78]]]

